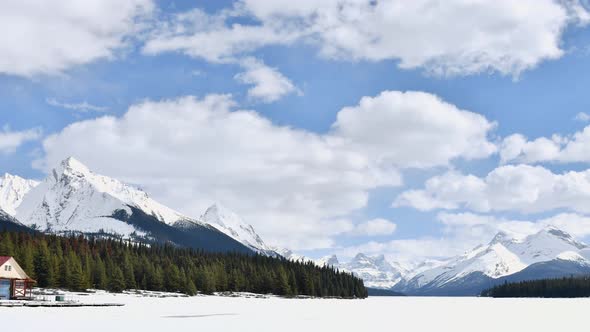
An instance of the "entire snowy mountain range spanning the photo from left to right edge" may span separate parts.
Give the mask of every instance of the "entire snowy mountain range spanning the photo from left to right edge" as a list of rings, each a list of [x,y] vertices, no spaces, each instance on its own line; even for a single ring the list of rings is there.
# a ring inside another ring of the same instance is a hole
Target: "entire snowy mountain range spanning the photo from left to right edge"
[[[216,203],[198,218],[183,215],[142,189],[99,175],[74,158],[41,182],[0,177],[0,229],[86,234],[171,243],[214,252],[259,253],[311,261],[353,273],[372,288],[407,295],[478,295],[504,281],[590,274],[590,248],[557,228],[525,238],[498,233],[489,243],[444,261],[405,266],[383,255],[312,260],[267,245],[238,214]]]

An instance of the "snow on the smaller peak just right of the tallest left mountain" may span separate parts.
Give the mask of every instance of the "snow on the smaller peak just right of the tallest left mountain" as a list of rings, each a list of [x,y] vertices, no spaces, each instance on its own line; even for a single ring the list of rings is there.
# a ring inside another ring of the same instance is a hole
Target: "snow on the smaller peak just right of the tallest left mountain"
[[[264,243],[252,225],[247,224],[240,216],[219,203],[210,206],[200,220],[259,253],[271,256],[278,254]]]

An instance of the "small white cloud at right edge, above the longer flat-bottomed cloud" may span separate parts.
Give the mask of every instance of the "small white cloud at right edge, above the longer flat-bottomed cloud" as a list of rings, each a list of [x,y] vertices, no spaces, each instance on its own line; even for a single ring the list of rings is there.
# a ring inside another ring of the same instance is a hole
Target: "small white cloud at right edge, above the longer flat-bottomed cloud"
[[[502,162],[590,162],[590,126],[570,136],[553,135],[529,141],[515,134],[504,139],[500,148]]]

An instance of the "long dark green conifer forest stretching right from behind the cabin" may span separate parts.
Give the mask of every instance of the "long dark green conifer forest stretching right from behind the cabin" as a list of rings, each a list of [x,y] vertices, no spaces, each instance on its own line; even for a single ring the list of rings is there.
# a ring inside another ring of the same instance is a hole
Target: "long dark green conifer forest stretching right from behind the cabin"
[[[127,289],[252,292],[282,296],[365,298],[363,281],[312,262],[112,238],[0,232],[0,256],[13,256],[37,286],[73,291]]]

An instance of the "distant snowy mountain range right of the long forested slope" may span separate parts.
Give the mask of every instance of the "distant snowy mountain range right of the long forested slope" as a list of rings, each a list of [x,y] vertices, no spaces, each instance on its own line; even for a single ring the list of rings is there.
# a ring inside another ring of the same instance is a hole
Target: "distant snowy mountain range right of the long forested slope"
[[[462,255],[415,266],[362,253],[346,263],[339,262],[335,255],[315,263],[351,272],[371,288],[416,296],[475,296],[505,281],[588,275],[590,247],[560,229],[548,227],[525,238],[499,232],[488,244]]]

